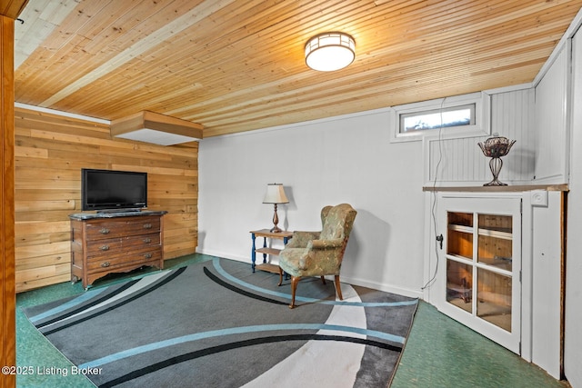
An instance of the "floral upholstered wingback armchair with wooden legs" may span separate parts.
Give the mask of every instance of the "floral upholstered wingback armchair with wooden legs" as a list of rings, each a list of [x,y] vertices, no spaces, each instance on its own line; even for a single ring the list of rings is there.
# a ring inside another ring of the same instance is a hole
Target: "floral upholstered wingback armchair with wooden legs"
[[[279,284],[283,273],[291,275],[291,304],[295,307],[297,283],[304,276],[334,275],[336,293],[343,299],[339,286],[339,270],[352,231],[356,210],[349,204],[326,206],[321,210],[321,232],[294,232],[293,238],[279,255]]]

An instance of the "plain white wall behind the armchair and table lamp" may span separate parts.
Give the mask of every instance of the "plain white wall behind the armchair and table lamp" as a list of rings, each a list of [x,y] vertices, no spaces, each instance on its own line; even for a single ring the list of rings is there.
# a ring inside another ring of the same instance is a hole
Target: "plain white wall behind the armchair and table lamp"
[[[278,210],[286,230],[321,230],[326,204],[356,208],[344,281],[420,296],[422,143],[393,144],[390,134],[380,110],[204,139],[198,252],[250,263],[249,231],[272,226],[266,184],[281,183],[290,201]]]

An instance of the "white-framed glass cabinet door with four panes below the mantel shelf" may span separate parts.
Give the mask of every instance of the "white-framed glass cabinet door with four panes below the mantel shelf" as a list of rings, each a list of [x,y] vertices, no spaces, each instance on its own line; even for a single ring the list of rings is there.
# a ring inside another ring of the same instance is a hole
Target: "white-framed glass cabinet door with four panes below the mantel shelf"
[[[521,290],[520,259],[516,262],[515,256],[521,252],[519,206],[516,213],[497,214],[496,206],[467,206],[471,207],[478,211],[445,212],[445,298],[439,308],[517,353]]]

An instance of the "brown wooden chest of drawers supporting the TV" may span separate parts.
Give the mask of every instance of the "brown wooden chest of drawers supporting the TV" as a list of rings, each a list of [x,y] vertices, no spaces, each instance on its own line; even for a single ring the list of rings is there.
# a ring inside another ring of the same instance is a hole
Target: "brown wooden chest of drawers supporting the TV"
[[[106,274],[164,268],[165,213],[71,214],[71,280],[87,288]]]

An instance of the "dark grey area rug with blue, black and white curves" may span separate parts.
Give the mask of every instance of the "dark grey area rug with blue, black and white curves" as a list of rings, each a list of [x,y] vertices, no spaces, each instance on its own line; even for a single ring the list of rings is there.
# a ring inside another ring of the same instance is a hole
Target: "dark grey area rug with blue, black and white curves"
[[[99,387],[386,387],[417,300],[226,259],[28,308],[35,327]]]

